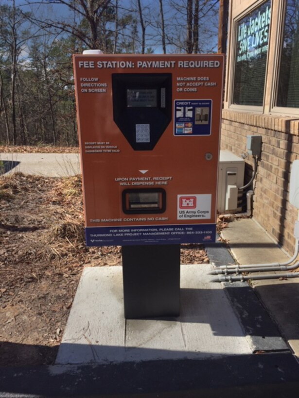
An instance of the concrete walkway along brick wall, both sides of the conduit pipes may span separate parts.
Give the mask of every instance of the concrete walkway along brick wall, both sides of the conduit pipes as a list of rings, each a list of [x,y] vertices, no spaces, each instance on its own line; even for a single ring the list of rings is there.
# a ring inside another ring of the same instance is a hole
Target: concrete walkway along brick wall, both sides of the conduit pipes
[[[240,265],[283,262],[289,258],[252,219],[236,219],[229,223],[221,235],[227,240],[233,258]],[[252,281],[251,284],[281,336],[299,357],[299,278]]]

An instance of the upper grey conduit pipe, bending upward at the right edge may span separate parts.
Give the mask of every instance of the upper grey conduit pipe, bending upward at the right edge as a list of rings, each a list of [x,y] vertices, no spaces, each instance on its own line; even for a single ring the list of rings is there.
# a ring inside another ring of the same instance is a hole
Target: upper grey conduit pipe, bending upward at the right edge
[[[297,221],[296,221],[297,222]],[[289,268],[287,265],[295,261],[299,254],[299,241],[296,239],[296,250],[292,258],[283,263],[270,263],[270,264],[248,264],[248,265],[221,265],[220,269],[214,269],[210,272],[210,275],[227,275],[227,274],[239,274],[240,272],[260,272],[260,271],[285,271],[286,269],[296,269]],[[291,265],[293,267],[293,265]]]

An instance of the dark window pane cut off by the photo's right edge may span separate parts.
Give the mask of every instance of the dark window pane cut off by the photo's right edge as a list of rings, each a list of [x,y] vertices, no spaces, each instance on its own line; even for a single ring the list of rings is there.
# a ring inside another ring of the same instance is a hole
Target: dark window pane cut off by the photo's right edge
[[[281,42],[277,106],[299,108],[299,2],[287,0]]]

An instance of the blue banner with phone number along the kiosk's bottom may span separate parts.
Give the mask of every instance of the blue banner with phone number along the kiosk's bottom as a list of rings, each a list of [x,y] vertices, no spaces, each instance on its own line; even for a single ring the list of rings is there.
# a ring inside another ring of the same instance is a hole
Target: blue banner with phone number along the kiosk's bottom
[[[85,233],[87,246],[214,243],[216,224],[88,227]]]

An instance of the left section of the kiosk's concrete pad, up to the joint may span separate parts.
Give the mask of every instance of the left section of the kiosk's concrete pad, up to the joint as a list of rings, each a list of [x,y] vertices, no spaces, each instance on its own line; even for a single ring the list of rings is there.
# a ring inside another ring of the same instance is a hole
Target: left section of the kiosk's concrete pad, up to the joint
[[[56,362],[107,362],[111,355],[122,361],[123,350],[118,348],[123,348],[124,343],[121,267],[85,268]]]

